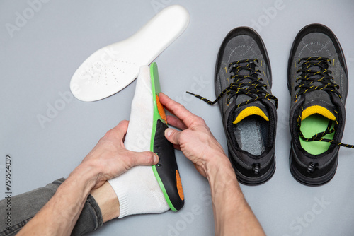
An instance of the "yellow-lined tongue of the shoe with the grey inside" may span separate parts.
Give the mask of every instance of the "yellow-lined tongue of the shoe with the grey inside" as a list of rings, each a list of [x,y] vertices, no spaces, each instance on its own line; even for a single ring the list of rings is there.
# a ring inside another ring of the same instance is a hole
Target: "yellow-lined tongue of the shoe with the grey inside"
[[[269,114],[265,105],[261,102],[251,102],[249,105],[244,105],[236,108],[234,112],[234,122],[233,124],[237,124],[241,122],[242,119],[249,117],[251,115],[258,115],[263,117],[267,122],[269,121]]]

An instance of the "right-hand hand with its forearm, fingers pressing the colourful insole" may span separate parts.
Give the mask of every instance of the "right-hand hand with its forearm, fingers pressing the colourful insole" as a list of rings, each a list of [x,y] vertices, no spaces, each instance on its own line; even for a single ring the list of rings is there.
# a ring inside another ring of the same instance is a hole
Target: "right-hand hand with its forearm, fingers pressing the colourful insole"
[[[166,138],[207,177],[214,208],[215,235],[265,235],[237,182],[234,169],[204,120],[159,93],[159,100],[176,117],[167,122]]]

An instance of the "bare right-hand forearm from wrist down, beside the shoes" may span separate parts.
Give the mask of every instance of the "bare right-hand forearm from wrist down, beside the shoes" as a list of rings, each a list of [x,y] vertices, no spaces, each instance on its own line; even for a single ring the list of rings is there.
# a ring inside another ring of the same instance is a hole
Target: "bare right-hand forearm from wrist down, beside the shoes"
[[[207,168],[215,219],[215,235],[265,235],[237,182],[226,156]]]

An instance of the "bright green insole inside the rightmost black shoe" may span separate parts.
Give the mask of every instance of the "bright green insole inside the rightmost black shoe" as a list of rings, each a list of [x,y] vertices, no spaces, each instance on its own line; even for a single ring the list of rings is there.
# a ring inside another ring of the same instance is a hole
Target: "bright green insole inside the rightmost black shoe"
[[[311,138],[315,134],[323,132],[327,129],[329,125],[329,119],[321,116],[321,114],[312,114],[301,122],[300,130],[304,134],[305,138]],[[333,128],[333,126],[331,127]],[[333,139],[334,132],[331,134],[326,134],[324,138]],[[329,149],[331,143],[324,141],[304,141],[300,138],[300,144],[305,151],[312,155],[319,155],[324,153]]]

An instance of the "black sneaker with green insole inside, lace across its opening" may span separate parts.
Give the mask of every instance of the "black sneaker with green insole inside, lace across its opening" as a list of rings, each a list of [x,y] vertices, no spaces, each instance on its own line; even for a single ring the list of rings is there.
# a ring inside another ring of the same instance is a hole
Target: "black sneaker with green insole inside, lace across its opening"
[[[324,25],[297,34],[290,52],[290,171],[302,184],[320,185],[336,173],[346,122],[348,72],[341,45]]]

